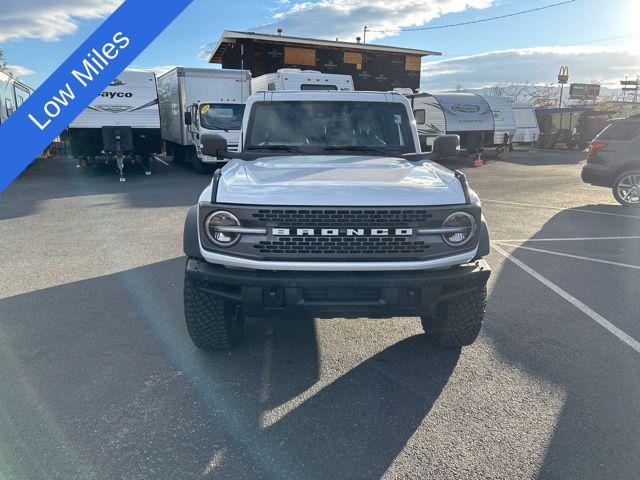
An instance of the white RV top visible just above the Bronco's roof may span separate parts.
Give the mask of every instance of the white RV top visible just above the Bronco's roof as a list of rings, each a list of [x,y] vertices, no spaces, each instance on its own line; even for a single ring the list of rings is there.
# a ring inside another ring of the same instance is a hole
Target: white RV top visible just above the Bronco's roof
[[[275,90],[337,90],[353,91],[351,75],[321,73],[316,70],[282,68],[276,73],[267,73],[251,80],[252,92]]]

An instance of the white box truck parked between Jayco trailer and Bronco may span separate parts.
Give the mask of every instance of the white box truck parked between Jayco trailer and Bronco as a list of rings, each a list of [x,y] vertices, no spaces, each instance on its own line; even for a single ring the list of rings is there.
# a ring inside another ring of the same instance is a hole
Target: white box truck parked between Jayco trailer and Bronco
[[[158,77],[160,125],[167,153],[198,173],[219,160],[204,155],[203,132],[216,132],[238,148],[244,105],[251,94],[248,70],[177,67]]]

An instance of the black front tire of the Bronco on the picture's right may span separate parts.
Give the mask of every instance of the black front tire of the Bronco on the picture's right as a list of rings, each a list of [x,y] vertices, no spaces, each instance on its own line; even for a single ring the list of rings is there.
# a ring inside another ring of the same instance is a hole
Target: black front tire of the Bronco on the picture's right
[[[464,347],[480,334],[487,306],[487,287],[441,303],[435,315],[421,317],[429,341],[440,347]]]

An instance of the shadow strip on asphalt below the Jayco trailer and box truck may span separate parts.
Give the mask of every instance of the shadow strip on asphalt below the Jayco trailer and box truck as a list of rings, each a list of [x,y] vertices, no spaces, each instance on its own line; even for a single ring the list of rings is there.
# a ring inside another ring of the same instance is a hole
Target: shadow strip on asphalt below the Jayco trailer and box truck
[[[134,208],[190,206],[211,181],[210,175],[198,175],[183,165],[154,162],[151,172],[146,176],[140,165],[127,165],[127,180],[119,182],[113,166],[76,168],[73,158],[41,158],[0,194],[0,220],[28,216],[43,202],[70,197],[124,195],[123,206]],[[4,200],[7,196],[11,202]]]

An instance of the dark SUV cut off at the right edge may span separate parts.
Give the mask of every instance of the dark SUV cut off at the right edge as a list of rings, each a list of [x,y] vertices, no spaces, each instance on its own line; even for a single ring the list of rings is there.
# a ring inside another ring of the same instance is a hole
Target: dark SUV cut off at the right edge
[[[582,180],[609,187],[625,207],[640,207],[640,115],[613,120],[591,142]]]

